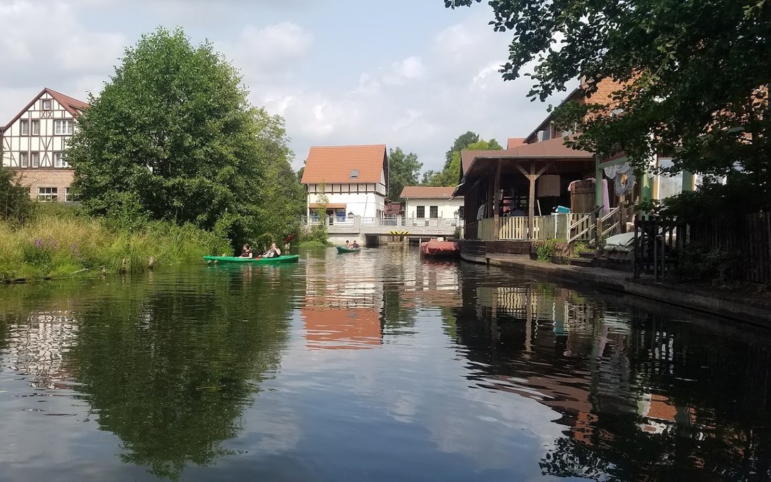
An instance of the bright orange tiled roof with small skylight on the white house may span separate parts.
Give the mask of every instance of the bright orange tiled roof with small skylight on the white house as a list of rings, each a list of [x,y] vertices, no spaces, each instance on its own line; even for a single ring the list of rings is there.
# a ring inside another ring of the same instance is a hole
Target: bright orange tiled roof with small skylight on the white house
[[[384,144],[314,146],[305,160],[301,183],[379,183],[384,163]],[[353,170],[359,170],[356,179],[351,178]]]

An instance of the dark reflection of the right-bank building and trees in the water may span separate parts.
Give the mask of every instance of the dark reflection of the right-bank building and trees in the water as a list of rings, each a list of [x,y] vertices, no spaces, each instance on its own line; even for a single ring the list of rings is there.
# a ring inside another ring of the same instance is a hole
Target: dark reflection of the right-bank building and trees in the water
[[[561,414],[566,436],[541,460],[544,474],[769,480],[767,340],[538,285],[464,281],[463,301],[470,377]]]

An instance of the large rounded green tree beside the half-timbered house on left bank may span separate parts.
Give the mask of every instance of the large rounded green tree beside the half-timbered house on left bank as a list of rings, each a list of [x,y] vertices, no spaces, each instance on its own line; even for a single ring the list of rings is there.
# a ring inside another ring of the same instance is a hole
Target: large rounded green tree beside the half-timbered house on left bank
[[[283,120],[248,103],[210,43],[143,35],[89,103],[68,160],[91,214],[190,222],[235,242],[284,234],[300,214]]]

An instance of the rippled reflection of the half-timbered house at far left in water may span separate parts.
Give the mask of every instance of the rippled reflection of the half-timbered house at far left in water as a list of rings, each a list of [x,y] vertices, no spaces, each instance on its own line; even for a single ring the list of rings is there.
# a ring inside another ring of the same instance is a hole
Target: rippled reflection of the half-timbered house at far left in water
[[[70,376],[64,355],[77,336],[77,325],[66,312],[33,313],[24,323],[8,325],[5,352],[11,368],[30,377],[30,386],[63,388]]]

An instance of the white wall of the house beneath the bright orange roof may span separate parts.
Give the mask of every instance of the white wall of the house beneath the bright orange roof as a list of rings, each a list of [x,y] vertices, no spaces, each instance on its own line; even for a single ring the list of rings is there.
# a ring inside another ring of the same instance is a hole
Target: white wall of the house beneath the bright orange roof
[[[380,217],[385,211],[385,182],[324,184],[327,212],[335,217]],[[308,184],[308,215],[313,216],[321,184]],[[332,211],[332,212],[330,212]]]

